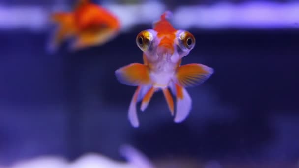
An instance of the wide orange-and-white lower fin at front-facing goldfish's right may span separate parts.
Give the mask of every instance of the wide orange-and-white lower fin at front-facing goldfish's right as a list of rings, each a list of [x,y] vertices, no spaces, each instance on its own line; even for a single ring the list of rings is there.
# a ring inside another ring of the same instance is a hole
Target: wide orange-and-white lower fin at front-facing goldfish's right
[[[177,112],[175,122],[182,122],[191,110],[192,100],[187,90],[178,84],[175,84],[177,95]]]

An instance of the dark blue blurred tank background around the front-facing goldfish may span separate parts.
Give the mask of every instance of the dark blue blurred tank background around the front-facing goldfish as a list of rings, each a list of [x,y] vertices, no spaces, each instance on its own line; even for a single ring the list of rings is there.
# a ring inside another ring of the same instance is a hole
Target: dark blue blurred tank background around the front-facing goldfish
[[[189,29],[196,47],[182,64],[215,73],[187,88],[189,117],[175,124],[161,92],[140,128],[127,120],[135,90],[114,71],[142,61],[135,27],[113,41],[71,53],[45,50],[49,33],[0,31],[0,163],[86,152],[122,159],[124,143],[150,159],[190,157],[254,165],[299,158],[299,31]]]

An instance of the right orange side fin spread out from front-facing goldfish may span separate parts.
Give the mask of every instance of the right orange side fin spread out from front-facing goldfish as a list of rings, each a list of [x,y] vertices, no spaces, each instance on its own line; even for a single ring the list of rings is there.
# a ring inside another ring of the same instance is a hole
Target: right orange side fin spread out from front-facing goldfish
[[[214,70],[203,64],[187,64],[178,67],[175,82],[182,87],[196,86],[206,81]]]

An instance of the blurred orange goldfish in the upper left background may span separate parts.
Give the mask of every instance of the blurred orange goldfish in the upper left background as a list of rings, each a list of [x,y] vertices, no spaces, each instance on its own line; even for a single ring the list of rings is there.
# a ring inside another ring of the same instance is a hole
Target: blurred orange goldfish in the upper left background
[[[120,30],[120,21],[105,8],[90,0],[79,0],[72,12],[57,12],[51,16],[58,29],[49,50],[55,51],[66,39],[73,39],[71,50],[101,45]]]

